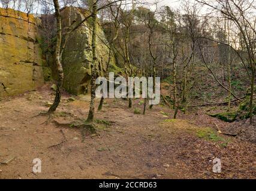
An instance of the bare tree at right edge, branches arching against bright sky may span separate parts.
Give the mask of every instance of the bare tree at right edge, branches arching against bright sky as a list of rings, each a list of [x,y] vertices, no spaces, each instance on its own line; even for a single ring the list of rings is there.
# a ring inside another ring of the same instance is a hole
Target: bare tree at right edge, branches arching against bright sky
[[[240,37],[245,50],[248,54],[248,63],[251,68],[251,97],[249,101],[249,116],[252,123],[253,115],[253,99],[254,99],[254,83],[255,83],[255,1],[254,0],[218,0],[215,3],[210,1],[199,1],[201,4],[207,5],[215,11],[218,11],[223,17],[233,21],[239,30]]]

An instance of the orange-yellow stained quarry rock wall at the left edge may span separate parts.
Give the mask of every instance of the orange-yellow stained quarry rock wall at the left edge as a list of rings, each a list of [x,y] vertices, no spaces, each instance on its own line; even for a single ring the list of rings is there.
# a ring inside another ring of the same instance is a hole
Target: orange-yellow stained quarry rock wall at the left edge
[[[35,18],[0,8],[0,97],[43,85],[41,66]]]

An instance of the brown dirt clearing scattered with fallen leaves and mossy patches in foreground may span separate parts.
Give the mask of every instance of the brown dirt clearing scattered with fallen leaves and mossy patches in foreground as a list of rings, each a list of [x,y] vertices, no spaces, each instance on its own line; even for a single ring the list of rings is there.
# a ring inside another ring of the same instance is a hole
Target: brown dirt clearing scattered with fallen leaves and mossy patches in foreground
[[[49,85],[19,97],[0,101],[0,178],[256,178],[255,145],[212,130],[224,122],[203,113],[182,115],[161,106],[135,115],[134,101],[107,100],[109,106],[96,118],[111,122],[99,134],[85,137],[80,130],[41,125],[53,100]],[[71,122],[87,116],[88,97],[67,101],[65,95],[56,121]],[[206,128],[210,127],[210,128]],[[65,140],[65,141],[64,141]],[[59,144],[62,143],[62,144]],[[221,158],[222,172],[212,172],[212,160]],[[32,172],[32,160],[40,158],[42,172]]]

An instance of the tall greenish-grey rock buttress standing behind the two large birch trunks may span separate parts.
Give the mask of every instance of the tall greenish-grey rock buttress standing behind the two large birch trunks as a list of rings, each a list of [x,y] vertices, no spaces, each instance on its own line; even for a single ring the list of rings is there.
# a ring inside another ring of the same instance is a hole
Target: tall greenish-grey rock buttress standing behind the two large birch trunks
[[[86,10],[76,7],[65,7],[61,10],[62,29],[65,33],[68,28],[74,27],[88,16]],[[91,61],[92,61],[92,26],[91,18],[85,21],[76,30],[70,33],[62,53],[64,69],[64,88],[73,94],[90,92]],[[103,29],[97,25],[97,66],[98,75],[103,76],[107,69],[109,58],[108,42]],[[114,64],[114,59],[110,65]]]

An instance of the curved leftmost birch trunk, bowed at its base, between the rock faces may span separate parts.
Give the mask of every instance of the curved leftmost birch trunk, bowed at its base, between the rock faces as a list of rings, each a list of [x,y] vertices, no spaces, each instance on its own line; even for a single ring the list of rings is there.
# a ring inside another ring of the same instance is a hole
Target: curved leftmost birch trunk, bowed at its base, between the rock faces
[[[57,33],[56,33],[56,47],[55,47],[55,62],[58,70],[58,82],[57,82],[57,89],[55,100],[48,110],[48,113],[53,113],[59,106],[59,102],[61,101],[61,88],[63,84],[63,69],[61,65],[61,57],[60,57],[60,49],[61,49],[61,14],[59,11],[59,2],[58,0],[53,0],[54,7],[55,7],[55,16],[57,21]]]

